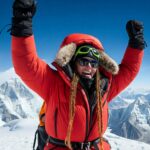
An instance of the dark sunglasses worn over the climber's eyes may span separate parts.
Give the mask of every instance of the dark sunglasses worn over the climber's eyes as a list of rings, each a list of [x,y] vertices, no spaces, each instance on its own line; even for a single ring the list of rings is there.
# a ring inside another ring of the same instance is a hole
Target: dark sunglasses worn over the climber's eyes
[[[92,68],[97,68],[99,66],[98,61],[89,60],[89,59],[86,59],[86,58],[83,58],[83,57],[79,58],[77,61],[81,66],[89,66],[89,64],[91,65]]]

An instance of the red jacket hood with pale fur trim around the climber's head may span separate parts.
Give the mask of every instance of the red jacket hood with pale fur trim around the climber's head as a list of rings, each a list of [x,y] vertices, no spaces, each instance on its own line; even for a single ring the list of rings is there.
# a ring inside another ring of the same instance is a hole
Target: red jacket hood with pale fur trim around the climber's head
[[[112,74],[118,73],[118,64],[104,52],[101,42],[96,37],[88,34],[74,33],[68,35],[63,40],[54,62],[56,62],[60,67],[64,67],[72,59],[77,46],[82,44],[92,45],[99,50],[101,67]]]

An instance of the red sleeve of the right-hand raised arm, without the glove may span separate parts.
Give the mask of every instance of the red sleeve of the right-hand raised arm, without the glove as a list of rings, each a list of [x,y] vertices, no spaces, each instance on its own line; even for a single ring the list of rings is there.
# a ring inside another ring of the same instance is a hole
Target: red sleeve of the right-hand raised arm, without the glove
[[[136,77],[142,64],[144,51],[128,47],[121,64],[119,73],[112,77],[112,85],[108,102],[124,90]]]

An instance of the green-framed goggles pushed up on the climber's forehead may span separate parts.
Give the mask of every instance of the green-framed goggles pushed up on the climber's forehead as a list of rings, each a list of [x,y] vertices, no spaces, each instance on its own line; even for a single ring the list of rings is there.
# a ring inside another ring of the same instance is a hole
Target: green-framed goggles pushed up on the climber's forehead
[[[88,53],[92,53],[92,55],[99,60],[100,58],[100,53],[98,52],[97,49],[95,49],[94,47],[91,47],[91,46],[87,46],[87,45],[84,45],[84,46],[81,46],[77,49],[77,52],[75,53],[75,58],[78,56],[78,55],[86,55]]]

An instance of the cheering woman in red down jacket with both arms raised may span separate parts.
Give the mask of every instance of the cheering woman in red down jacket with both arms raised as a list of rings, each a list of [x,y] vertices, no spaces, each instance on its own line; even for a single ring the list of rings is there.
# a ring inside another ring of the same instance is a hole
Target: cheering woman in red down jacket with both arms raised
[[[112,60],[101,42],[87,34],[71,34],[60,46],[53,70],[36,53],[32,33],[34,0],[15,0],[12,58],[16,73],[46,103],[44,150],[109,150],[103,134],[108,103],[137,75],[145,42],[140,22],[129,21],[129,44],[121,64]]]

